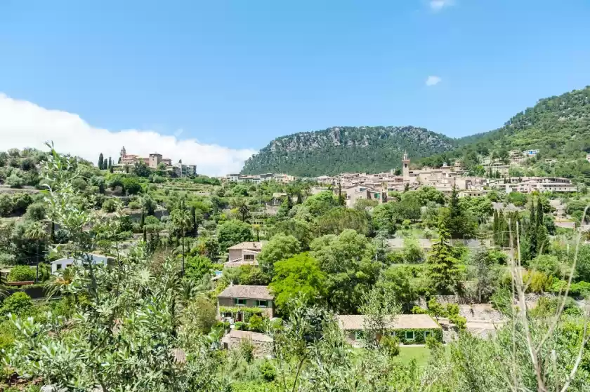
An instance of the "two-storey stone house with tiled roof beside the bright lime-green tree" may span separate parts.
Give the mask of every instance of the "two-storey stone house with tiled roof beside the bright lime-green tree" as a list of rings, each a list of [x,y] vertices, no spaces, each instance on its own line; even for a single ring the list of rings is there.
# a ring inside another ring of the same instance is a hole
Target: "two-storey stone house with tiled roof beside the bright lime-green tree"
[[[218,315],[223,317],[222,308],[237,308],[236,321],[242,321],[240,308],[259,308],[269,318],[274,316],[275,297],[266,286],[230,284],[217,296]],[[233,313],[233,312],[232,312]]]

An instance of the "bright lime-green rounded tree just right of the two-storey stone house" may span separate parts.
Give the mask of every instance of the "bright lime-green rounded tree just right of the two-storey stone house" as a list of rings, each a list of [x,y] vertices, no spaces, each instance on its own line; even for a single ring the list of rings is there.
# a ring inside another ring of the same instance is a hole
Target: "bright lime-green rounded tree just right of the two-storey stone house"
[[[308,304],[325,297],[326,276],[317,260],[308,253],[301,253],[275,263],[275,276],[270,290],[275,295],[275,304],[285,311],[292,299],[302,297]]]

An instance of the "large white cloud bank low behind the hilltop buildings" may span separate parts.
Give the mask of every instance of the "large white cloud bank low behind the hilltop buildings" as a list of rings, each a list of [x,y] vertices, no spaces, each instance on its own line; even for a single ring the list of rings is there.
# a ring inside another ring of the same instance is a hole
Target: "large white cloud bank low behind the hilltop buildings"
[[[113,132],[94,128],[77,114],[49,110],[23,100],[14,100],[0,93],[0,150],[34,147],[46,149],[44,142],[53,141],[58,151],[81,156],[96,164],[98,154],[119,158],[125,146],[127,154],[147,156],[157,151],[173,163],[183,160],[196,164],[197,173],[225,175],[237,173],[244,161],[257,151],[230,149],[197,140],[178,140],[176,136],[161,135],[152,130],[120,130]]]

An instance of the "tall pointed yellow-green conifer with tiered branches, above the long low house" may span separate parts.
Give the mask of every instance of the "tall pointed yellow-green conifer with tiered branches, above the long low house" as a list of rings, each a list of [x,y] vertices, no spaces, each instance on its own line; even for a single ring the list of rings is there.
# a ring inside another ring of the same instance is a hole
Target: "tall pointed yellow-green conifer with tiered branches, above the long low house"
[[[438,226],[438,235],[438,242],[434,243],[426,259],[428,278],[432,287],[440,294],[454,294],[458,288],[462,268],[459,260],[453,257],[452,247],[448,242],[450,234],[442,219]]]

